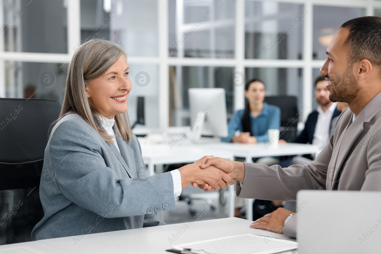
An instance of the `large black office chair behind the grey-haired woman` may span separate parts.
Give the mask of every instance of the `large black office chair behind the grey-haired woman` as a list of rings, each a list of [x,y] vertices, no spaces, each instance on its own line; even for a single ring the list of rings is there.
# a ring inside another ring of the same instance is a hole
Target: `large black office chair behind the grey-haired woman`
[[[0,245],[30,241],[44,215],[38,190],[48,131],[60,110],[52,100],[0,98]]]

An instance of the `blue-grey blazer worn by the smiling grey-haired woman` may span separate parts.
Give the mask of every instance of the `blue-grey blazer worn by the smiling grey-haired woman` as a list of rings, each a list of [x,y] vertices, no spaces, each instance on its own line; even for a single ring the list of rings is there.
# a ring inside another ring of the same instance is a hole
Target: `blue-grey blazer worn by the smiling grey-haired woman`
[[[176,208],[171,173],[146,176],[136,136],[129,144],[113,129],[120,153],[77,114],[54,126],[40,181],[45,215],[32,240],[75,236],[77,243],[89,233],[165,224],[156,212]]]

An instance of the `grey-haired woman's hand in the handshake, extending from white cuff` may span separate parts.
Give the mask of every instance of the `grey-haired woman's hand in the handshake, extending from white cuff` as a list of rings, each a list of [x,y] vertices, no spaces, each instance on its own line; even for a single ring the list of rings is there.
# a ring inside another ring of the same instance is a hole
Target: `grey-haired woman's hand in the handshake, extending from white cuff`
[[[204,166],[200,168],[200,165],[208,158],[214,156],[204,156],[201,159],[195,161],[192,164],[179,168],[181,174],[182,189],[191,183],[203,185],[207,184],[208,187],[215,190],[226,189],[227,184],[234,184],[234,180],[225,172],[214,166]]]

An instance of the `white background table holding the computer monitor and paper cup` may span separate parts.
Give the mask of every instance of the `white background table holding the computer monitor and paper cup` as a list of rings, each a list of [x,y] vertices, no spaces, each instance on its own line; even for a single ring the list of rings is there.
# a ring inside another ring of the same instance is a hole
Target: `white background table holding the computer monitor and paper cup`
[[[194,162],[204,155],[214,155],[229,160],[234,157],[243,157],[246,162],[253,158],[275,157],[285,155],[316,155],[319,151],[316,145],[287,143],[278,146],[269,143],[242,144],[220,142],[216,139],[202,138],[203,143],[193,144],[189,140],[182,140],[176,146],[170,147],[168,143],[149,144],[144,139],[139,139],[142,147],[143,161],[154,174],[154,165]],[[234,197],[234,185],[229,186],[229,197]],[[246,199],[246,216],[253,218],[254,199]],[[229,217],[234,217],[234,198],[229,198]]]

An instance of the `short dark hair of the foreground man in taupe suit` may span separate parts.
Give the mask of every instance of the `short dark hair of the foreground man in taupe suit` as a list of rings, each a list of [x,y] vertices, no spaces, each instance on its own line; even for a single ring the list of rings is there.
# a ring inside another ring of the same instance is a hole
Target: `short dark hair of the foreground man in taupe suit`
[[[368,59],[381,76],[381,18],[360,17],[351,19],[341,27],[349,29],[344,45],[349,46],[348,61]]]

